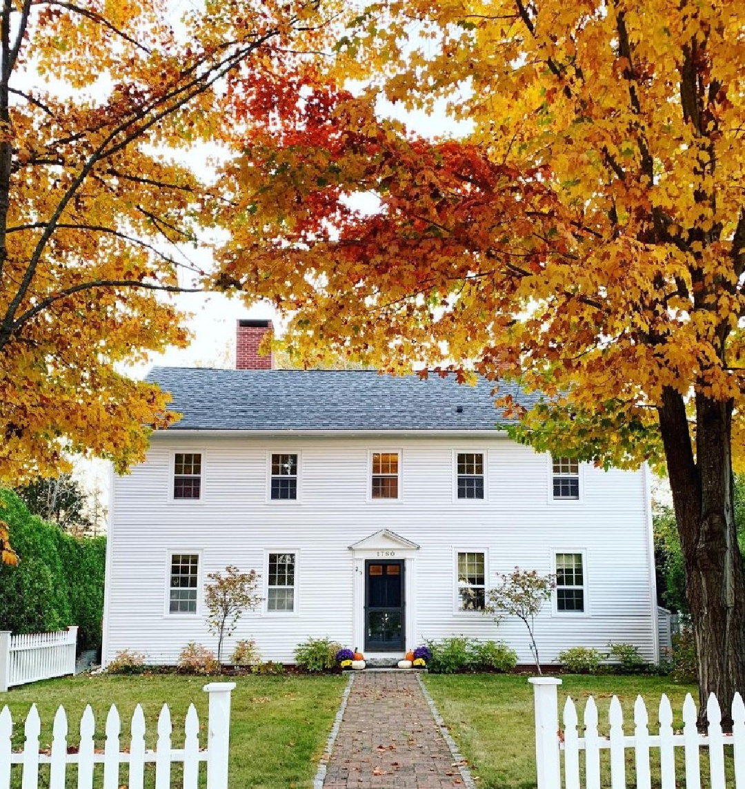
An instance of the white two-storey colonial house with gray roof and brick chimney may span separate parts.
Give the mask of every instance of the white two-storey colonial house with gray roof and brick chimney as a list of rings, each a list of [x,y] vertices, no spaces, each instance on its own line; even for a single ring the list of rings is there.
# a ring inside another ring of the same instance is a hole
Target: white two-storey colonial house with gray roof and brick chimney
[[[227,565],[261,575],[263,603],[233,641],[254,638],[264,660],[291,663],[308,636],[394,657],[465,634],[507,641],[528,664],[523,624],[482,612],[514,567],[557,575],[536,626],[542,662],[611,641],[657,660],[646,468],[513,442],[487,382],[271,369],[257,353],[268,327],[239,321],[235,370],[149,376],[183,418],[112,482],[105,663],[214,648],[205,581]]]

